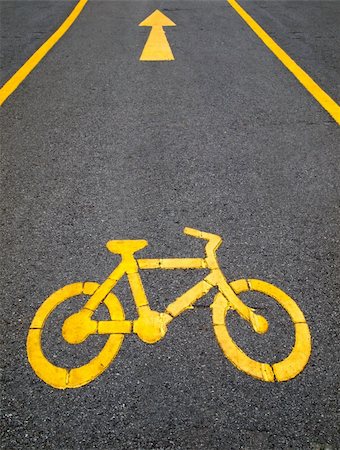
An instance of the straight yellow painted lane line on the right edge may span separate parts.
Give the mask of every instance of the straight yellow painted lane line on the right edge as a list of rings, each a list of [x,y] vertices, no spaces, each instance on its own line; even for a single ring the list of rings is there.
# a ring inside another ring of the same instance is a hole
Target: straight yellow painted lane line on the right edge
[[[249,25],[263,43],[274,53],[274,55],[284,64],[287,69],[300,81],[307,91],[317,100],[320,105],[333,117],[340,125],[340,106],[318,86],[315,81],[296,64],[295,61],[264,31],[260,25],[237,3],[236,0],[227,0],[234,10]]]

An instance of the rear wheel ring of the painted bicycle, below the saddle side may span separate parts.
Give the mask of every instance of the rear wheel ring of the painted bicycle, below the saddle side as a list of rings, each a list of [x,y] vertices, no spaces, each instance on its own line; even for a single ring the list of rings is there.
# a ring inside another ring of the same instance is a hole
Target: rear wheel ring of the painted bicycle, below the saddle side
[[[59,367],[50,362],[42,349],[42,333],[47,319],[62,303],[71,298],[92,295],[99,287],[98,283],[73,283],[48,297],[37,310],[27,336],[28,360],[34,372],[45,383],[57,389],[77,388],[94,380],[109,366],[116,357],[123,342],[123,334],[111,334],[100,352],[80,367]],[[118,298],[111,292],[103,301],[111,320],[124,320],[124,310]]]

